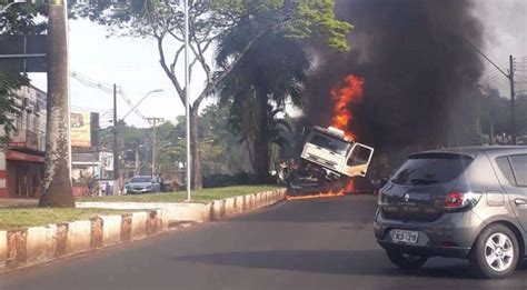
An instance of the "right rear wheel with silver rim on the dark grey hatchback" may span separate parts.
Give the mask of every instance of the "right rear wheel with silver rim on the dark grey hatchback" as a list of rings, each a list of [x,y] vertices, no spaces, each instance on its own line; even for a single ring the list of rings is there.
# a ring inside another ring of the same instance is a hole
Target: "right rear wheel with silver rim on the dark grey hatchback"
[[[503,224],[481,231],[469,256],[474,272],[480,278],[505,278],[514,272],[519,260],[519,244],[514,232]]]

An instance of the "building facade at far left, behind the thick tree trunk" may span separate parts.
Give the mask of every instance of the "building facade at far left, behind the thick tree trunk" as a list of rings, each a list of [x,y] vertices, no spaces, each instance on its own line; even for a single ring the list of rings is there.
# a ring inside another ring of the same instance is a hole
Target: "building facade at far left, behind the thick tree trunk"
[[[16,130],[0,152],[0,197],[38,198],[44,170],[47,94],[33,87],[17,91]]]

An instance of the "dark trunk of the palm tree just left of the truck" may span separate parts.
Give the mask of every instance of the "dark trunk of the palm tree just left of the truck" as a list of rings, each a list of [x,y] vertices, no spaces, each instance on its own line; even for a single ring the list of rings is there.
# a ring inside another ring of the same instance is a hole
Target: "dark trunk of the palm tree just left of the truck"
[[[267,183],[269,181],[269,132],[266,94],[258,93],[258,110],[260,130],[255,140],[255,163],[258,182]]]

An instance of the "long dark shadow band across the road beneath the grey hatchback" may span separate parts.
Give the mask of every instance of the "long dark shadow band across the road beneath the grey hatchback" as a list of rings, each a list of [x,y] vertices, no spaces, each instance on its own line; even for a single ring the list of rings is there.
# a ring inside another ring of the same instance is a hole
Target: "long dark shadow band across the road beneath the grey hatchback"
[[[475,279],[464,260],[431,259],[428,266],[407,272],[391,266],[382,250],[223,252],[179,257],[177,260],[330,274]],[[518,271],[527,271],[527,261]]]

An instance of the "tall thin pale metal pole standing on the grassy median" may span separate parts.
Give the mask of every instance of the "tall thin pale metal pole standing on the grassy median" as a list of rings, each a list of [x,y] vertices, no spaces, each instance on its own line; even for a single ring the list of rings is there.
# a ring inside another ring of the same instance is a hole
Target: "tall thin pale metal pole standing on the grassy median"
[[[191,154],[190,154],[190,76],[189,76],[189,0],[185,0],[185,110],[187,121],[187,201],[191,200]]]

